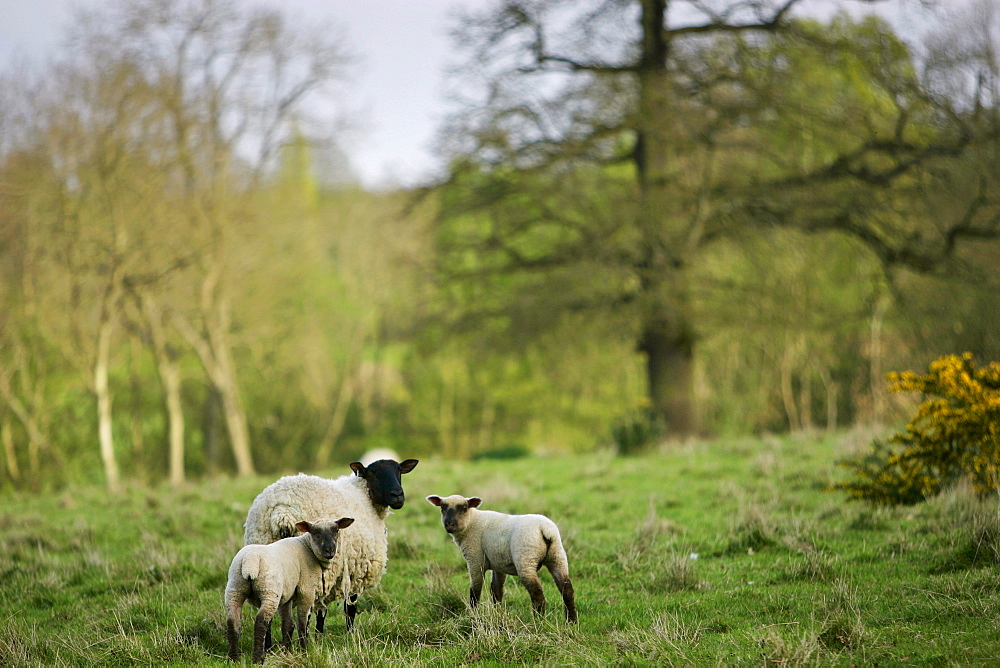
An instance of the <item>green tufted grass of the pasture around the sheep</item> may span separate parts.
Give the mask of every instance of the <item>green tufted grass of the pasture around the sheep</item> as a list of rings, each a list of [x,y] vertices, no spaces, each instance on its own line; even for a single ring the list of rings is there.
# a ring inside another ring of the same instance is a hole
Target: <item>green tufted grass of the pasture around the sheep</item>
[[[347,635],[333,614],[308,651],[267,661],[994,663],[997,500],[958,489],[911,508],[848,504],[825,490],[852,438],[698,442],[625,458],[425,459],[404,478],[408,502],[388,521],[389,572],[362,599],[357,631]],[[226,570],[250,502],[272,479],[4,498],[0,663],[224,664]],[[464,562],[423,500],[431,493],[555,519],[580,623],[562,621],[548,575],[543,618],[510,579],[502,606],[486,595],[470,610]]]

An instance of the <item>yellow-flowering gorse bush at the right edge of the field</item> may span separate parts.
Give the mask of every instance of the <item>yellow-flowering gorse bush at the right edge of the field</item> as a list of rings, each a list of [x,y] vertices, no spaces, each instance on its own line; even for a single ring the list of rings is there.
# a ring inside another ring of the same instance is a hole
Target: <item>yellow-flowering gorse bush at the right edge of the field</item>
[[[889,374],[889,391],[925,400],[903,431],[842,462],[855,476],[836,488],[885,506],[918,503],[962,479],[981,496],[1000,489],[1000,364],[945,355],[926,375]]]

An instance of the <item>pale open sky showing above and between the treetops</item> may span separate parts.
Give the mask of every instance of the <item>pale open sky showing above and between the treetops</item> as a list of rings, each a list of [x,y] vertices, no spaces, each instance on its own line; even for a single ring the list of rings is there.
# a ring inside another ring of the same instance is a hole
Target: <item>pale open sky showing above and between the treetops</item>
[[[102,0],[0,0],[0,69],[44,63],[60,46],[71,8]],[[834,0],[816,0],[834,6]],[[970,0],[938,0],[964,5]],[[444,71],[449,19],[458,8],[488,0],[263,0],[293,21],[345,29],[356,55],[345,86],[352,130],[343,141],[353,171],[366,187],[412,186],[438,165],[432,143],[447,106]],[[901,33],[920,30],[926,14],[917,0],[888,0],[880,10]],[[846,3],[856,5],[856,3]]]

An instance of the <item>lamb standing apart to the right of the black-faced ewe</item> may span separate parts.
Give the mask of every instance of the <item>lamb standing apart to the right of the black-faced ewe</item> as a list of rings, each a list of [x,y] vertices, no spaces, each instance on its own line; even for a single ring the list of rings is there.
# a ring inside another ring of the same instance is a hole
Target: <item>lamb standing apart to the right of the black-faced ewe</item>
[[[537,614],[545,612],[545,594],[538,579],[542,566],[549,569],[566,606],[566,621],[576,621],[573,583],[569,579],[569,560],[563,548],[559,528],[544,515],[507,515],[479,510],[482,499],[459,494],[427,500],[441,509],[444,530],[451,534],[469,567],[469,604],[475,607],[483,590],[486,571],[493,571],[490,592],[493,600],[503,600],[503,583],[508,575],[517,575],[531,596]]]

